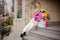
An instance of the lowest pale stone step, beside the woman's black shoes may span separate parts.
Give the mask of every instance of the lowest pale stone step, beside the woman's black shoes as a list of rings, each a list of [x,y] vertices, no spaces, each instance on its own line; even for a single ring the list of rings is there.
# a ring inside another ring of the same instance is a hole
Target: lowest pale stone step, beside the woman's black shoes
[[[46,36],[35,34],[35,33],[34,34],[29,33],[29,35],[25,36],[25,39],[27,40],[59,40],[59,39],[54,39],[54,38],[46,37]]]

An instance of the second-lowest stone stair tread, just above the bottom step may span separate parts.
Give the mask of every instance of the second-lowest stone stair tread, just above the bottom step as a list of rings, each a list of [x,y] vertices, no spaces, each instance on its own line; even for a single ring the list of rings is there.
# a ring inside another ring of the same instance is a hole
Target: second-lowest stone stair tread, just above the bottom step
[[[43,36],[50,37],[50,38],[60,39],[60,35],[55,35],[55,34],[43,32],[40,30],[39,31],[30,31],[30,32],[33,34],[37,34],[37,35],[43,35]]]

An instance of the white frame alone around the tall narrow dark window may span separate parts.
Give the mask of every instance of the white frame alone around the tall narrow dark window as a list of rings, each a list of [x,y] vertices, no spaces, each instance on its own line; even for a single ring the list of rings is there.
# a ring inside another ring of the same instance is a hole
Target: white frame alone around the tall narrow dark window
[[[17,18],[17,0],[14,0],[14,19],[15,20],[21,20],[25,18],[25,0],[22,0],[22,18]]]

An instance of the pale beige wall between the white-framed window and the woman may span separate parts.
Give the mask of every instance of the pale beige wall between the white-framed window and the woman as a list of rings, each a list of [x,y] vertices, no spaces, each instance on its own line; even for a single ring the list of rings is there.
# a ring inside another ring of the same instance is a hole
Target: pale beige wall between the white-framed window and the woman
[[[33,5],[31,4],[33,0],[26,0],[25,6],[25,17],[24,19],[14,20],[12,30],[19,30],[20,27],[24,28],[32,18]]]

